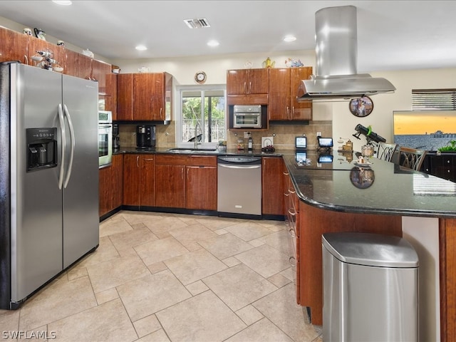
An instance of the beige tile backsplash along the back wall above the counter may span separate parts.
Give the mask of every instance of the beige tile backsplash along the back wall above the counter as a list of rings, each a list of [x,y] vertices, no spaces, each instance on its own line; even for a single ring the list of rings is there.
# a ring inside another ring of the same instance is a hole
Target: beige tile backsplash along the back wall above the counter
[[[175,121],[170,125],[157,125],[157,147],[175,147]],[[274,137],[274,147],[281,150],[293,150],[295,137],[306,135],[309,149],[317,147],[316,133],[321,132],[323,137],[331,137],[333,134],[332,121],[309,121],[309,125],[274,125],[269,123],[268,130],[245,130],[252,133],[254,150],[261,149],[261,137]],[[136,125],[120,125],[120,147],[136,147]],[[227,147],[237,147],[237,140],[243,139],[244,130],[229,130],[227,132]],[[247,146],[247,139],[245,140]]]

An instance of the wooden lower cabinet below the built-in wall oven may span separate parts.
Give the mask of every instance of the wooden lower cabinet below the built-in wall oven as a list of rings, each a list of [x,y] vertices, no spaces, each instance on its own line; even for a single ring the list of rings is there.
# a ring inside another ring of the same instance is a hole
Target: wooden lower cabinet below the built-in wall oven
[[[113,164],[99,170],[99,214],[102,217],[122,206],[123,155],[113,155]]]

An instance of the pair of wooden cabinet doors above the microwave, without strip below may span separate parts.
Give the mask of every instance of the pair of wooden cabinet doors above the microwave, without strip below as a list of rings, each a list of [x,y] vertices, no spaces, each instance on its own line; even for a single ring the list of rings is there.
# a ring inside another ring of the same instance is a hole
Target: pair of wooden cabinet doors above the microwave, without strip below
[[[227,95],[269,93],[269,68],[227,71]]]

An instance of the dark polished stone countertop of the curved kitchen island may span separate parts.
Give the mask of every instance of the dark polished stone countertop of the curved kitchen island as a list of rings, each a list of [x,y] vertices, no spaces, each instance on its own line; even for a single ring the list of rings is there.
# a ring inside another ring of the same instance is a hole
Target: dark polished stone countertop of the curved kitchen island
[[[283,155],[302,201],[338,212],[456,217],[455,182],[376,158],[357,167],[356,155],[344,153],[331,152],[333,162],[318,163],[318,152],[307,151],[310,165],[296,162],[294,151]]]

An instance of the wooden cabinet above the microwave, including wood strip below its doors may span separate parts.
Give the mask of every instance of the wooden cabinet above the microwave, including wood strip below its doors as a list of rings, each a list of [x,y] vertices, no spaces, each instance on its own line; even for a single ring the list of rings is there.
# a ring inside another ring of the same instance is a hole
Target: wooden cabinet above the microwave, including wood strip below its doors
[[[269,68],[227,71],[228,105],[267,105]]]

